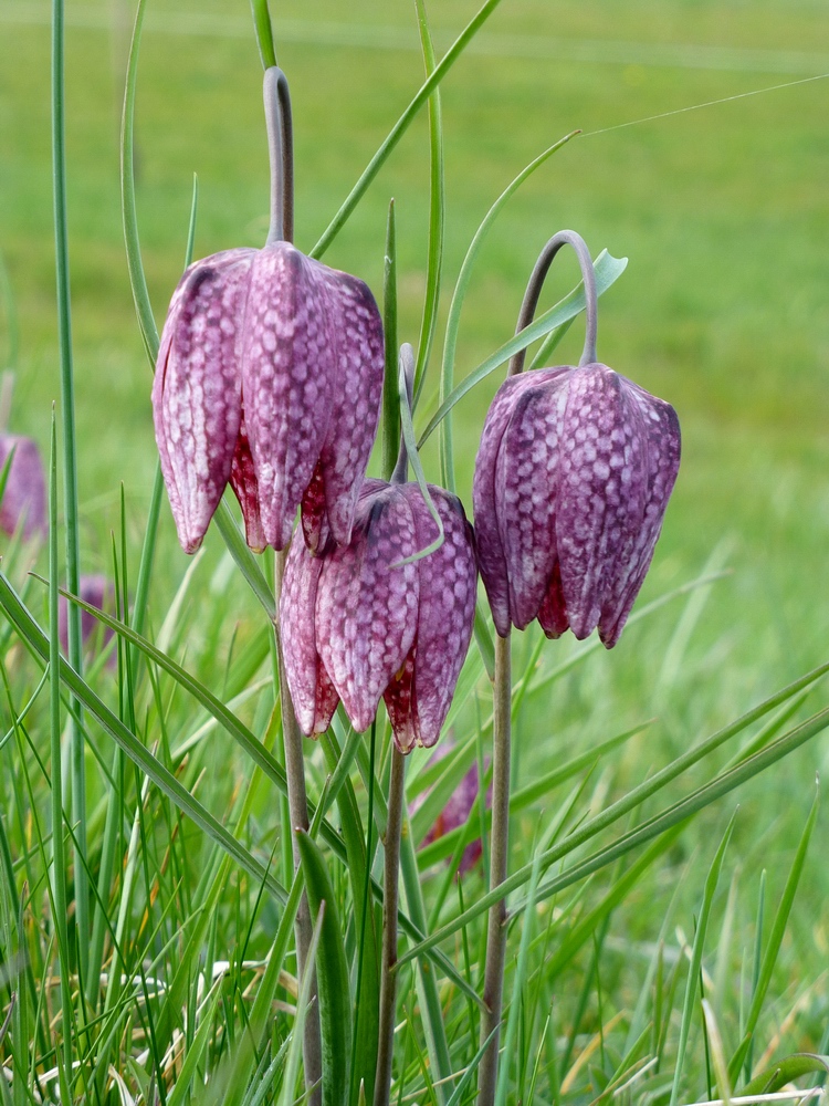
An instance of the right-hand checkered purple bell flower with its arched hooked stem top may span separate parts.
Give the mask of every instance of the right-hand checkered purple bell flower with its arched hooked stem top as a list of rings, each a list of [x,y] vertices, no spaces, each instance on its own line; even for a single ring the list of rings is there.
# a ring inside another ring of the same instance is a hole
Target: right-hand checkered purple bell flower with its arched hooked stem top
[[[592,264],[581,239],[571,231],[552,239],[534,278],[541,271],[543,280],[565,242],[583,261],[585,354],[577,368],[511,375],[499,389],[475,461],[479,564],[502,636],[537,617],[548,637],[569,628],[581,639],[598,626],[611,648],[662,528],[680,427],[669,404],[597,362]],[[528,290],[520,330],[537,294]]]

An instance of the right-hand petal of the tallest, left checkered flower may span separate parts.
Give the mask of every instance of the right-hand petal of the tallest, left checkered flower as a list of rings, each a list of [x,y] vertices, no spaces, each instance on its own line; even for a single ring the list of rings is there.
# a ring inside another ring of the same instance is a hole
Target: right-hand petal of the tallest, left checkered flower
[[[337,304],[339,322],[332,351],[332,416],[321,460],[330,532],[339,545],[347,545],[380,417],[382,322],[361,280],[334,269],[322,279],[328,304]]]

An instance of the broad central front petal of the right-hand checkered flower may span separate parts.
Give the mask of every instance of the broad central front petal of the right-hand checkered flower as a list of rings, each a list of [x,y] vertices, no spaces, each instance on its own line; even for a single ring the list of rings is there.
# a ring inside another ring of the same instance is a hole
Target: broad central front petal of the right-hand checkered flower
[[[569,379],[556,536],[567,616],[579,640],[598,625],[625,534],[644,515],[643,442],[620,382],[599,364],[574,369]]]

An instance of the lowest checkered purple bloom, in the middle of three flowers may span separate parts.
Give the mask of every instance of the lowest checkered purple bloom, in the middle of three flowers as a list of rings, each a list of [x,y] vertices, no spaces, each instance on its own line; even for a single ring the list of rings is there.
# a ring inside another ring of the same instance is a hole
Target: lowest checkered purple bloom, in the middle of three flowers
[[[400,752],[438,740],[472,635],[476,567],[460,501],[430,493],[445,538],[418,561],[400,564],[438,528],[416,483],[367,481],[348,545],[317,557],[292,545],[280,624],[306,734],[327,729],[339,700],[366,730],[382,697]]]

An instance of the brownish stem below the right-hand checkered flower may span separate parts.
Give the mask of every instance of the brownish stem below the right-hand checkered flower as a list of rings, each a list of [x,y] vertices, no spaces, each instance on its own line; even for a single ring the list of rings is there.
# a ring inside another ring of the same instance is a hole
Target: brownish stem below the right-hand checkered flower
[[[511,658],[510,635],[495,637],[495,681],[492,750],[492,836],[490,842],[490,890],[506,879],[510,855],[510,755],[511,755]],[[490,908],[484,961],[483,998],[487,1011],[481,1019],[481,1045],[489,1041],[479,1072],[479,1106],[492,1106],[497,1087],[501,1004],[506,953],[506,902]]]

